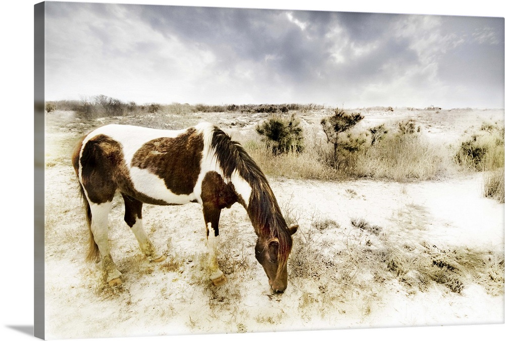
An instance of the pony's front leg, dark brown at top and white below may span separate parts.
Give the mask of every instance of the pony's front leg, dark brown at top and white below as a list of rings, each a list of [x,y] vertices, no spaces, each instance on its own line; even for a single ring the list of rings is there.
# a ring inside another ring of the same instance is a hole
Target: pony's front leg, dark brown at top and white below
[[[219,268],[217,253],[219,245],[219,216],[221,209],[204,204],[204,219],[207,230],[207,249],[209,250],[209,270],[215,286],[226,283],[226,276]]]

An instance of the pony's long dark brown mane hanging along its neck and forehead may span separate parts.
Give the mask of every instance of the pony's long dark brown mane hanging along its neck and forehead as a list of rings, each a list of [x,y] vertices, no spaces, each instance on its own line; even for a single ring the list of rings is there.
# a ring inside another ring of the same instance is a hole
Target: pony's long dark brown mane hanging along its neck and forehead
[[[240,143],[232,141],[217,127],[212,132],[212,148],[225,180],[230,181],[236,171],[251,187],[246,210],[252,226],[256,234],[279,240],[279,265],[284,264],[291,250],[292,239],[267,178]]]

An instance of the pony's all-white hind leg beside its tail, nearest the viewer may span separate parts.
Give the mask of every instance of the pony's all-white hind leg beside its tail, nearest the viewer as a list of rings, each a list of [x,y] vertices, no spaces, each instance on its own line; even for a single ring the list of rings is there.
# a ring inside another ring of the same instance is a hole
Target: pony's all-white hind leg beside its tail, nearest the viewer
[[[112,260],[109,249],[109,228],[108,218],[109,211],[112,207],[112,201],[107,201],[100,204],[90,203],[91,224],[90,229],[93,234],[93,239],[98,246],[106,280],[111,287],[119,286],[123,283],[122,273],[116,268],[116,264]]]

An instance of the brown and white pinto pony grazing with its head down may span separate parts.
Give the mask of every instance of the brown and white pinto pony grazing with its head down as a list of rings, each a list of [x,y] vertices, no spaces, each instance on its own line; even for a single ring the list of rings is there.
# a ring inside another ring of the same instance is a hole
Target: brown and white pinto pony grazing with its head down
[[[107,125],[87,134],[77,145],[72,163],[84,199],[91,232],[88,260],[102,257],[109,285],[123,283],[108,245],[108,214],[119,192],[125,204],[124,220],[140,249],[153,262],[166,259],[155,250],[142,227],[142,203],[201,205],[207,229],[211,280],[220,286],[226,277],[216,251],[219,216],[239,202],[258,236],[256,259],[275,293],[287,286],[291,235],[268,181],[239,143],[209,123],[184,130],[158,130]]]

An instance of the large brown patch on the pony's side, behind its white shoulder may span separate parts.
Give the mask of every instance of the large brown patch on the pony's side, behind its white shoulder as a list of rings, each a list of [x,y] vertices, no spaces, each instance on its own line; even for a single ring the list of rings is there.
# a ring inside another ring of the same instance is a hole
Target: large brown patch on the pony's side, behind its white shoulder
[[[177,137],[161,137],[145,143],[133,155],[131,166],[157,175],[174,194],[189,195],[200,174],[203,149],[203,136],[190,128]]]

